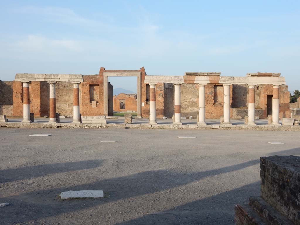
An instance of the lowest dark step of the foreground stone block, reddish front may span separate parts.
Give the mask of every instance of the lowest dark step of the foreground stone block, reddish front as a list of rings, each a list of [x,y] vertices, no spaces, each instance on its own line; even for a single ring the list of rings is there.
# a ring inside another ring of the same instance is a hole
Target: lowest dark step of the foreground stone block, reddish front
[[[235,225],[268,225],[247,203],[235,205]]]

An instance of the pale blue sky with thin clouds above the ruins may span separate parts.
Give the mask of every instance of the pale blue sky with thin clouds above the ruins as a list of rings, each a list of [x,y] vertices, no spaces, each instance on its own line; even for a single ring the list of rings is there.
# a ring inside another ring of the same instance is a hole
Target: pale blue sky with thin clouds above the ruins
[[[0,79],[15,73],[274,72],[300,89],[300,1],[0,1]],[[136,91],[136,78],[110,78]]]

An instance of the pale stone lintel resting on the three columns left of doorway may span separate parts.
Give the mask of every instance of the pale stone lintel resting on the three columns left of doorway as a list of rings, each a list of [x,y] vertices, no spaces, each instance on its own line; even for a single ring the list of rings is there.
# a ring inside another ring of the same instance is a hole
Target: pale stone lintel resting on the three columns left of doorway
[[[15,81],[83,82],[82,74],[16,73]]]

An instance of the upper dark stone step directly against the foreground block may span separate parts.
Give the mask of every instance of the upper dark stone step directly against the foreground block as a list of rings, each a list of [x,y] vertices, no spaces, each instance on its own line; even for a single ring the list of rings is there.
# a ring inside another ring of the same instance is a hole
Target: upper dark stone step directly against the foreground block
[[[286,217],[277,212],[271,205],[263,199],[250,197],[249,205],[267,222],[269,225],[293,225]]]

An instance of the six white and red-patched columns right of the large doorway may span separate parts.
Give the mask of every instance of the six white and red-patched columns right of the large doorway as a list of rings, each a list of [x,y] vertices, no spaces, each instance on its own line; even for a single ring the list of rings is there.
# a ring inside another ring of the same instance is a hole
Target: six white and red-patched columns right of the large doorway
[[[149,83],[150,85],[150,115],[149,124],[157,124],[156,121],[156,101],[155,101],[155,85],[157,83]],[[223,84],[223,125],[232,125],[230,123],[230,85]],[[174,122],[175,125],[181,125],[180,112],[180,86],[174,83]],[[255,86],[249,84],[248,95],[248,125],[255,124]],[[272,125],[279,124],[279,85],[273,85],[272,98]],[[205,123],[205,84],[199,84],[199,122],[198,125],[206,125]]]

